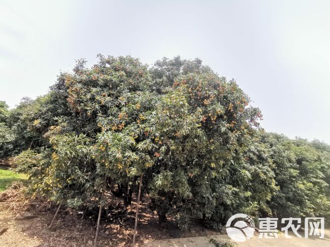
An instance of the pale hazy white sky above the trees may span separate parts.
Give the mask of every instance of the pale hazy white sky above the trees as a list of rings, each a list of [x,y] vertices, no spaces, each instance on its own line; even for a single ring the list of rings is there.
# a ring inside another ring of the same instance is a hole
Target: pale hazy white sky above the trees
[[[0,0],[0,100],[47,92],[78,58],[201,58],[267,131],[330,143],[330,1]]]

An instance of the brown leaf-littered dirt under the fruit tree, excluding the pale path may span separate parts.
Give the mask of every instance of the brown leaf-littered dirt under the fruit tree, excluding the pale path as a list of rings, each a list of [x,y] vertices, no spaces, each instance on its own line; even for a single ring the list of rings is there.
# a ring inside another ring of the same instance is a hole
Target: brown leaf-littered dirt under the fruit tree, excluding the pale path
[[[120,198],[112,198],[119,208]],[[115,201],[117,200],[117,202]],[[133,198],[135,201],[136,198]],[[119,205],[118,205],[119,203]],[[0,198],[1,204],[1,198]],[[27,207],[24,212],[11,210],[0,211],[0,230],[8,230],[0,236],[2,247],[32,247],[32,246],[92,246],[95,235],[95,223],[92,219],[82,220],[77,211],[62,209],[54,221],[52,229],[48,229],[54,213],[55,205],[49,207]],[[128,207],[125,217],[118,217],[112,222],[101,222],[97,246],[131,246],[135,222],[136,203]],[[14,213],[15,212],[15,213]],[[207,229],[199,223],[194,223],[190,231],[182,232],[169,222],[167,226],[159,226],[157,215],[148,207],[148,202],[142,203],[139,215],[136,246],[159,239],[195,237],[219,234],[218,231]],[[22,219],[23,217],[29,219]]]

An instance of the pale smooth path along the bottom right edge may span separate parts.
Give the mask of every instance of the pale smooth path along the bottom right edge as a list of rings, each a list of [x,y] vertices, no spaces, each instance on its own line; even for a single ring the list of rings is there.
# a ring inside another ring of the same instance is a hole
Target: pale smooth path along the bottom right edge
[[[330,246],[330,229],[325,229],[324,239],[317,237],[313,238],[299,238],[290,234],[291,238],[285,238],[284,234],[280,234],[278,239],[259,239],[257,235],[254,235],[246,242],[237,243],[239,247],[329,247]],[[150,243],[146,243],[144,247],[215,247],[215,244],[210,243],[210,240],[214,239],[219,242],[230,240],[227,235],[214,235],[206,237],[187,237],[187,238],[175,238],[156,240]]]

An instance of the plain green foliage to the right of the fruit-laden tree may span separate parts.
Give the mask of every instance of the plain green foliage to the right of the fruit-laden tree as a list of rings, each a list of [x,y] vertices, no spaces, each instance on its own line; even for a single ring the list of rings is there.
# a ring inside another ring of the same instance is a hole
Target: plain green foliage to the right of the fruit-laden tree
[[[264,134],[261,142],[275,164],[278,190],[270,208],[279,217],[326,216],[329,214],[330,146],[319,141],[290,140]]]

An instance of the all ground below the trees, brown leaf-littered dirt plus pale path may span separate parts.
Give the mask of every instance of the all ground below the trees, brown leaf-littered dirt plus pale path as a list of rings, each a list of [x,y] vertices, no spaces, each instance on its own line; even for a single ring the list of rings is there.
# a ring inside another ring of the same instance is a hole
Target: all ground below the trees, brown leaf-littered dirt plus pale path
[[[109,195],[111,196],[111,195]],[[112,197],[116,209],[122,209],[122,199]],[[136,201],[136,198],[133,198]],[[101,221],[97,246],[131,246],[135,222],[136,203],[132,202],[125,214]],[[53,227],[48,228],[56,211],[56,205],[43,200],[30,200],[19,189],[9,189],[0,193],[0,246],[2,247],[84,247],[93,246],[95,222],[91,217],[82,220],[77,211],[60,209]],[[118,210],[117,210],[118,211]],[[158,224],[157,215],[148,207],[148,201],[140,208],[137,244],[145,247],[214,247],[221,246],[210,240],[221,243],[228,241],[224,232],[205,228],[193,222],[190,231],[180,231],[174,223]],[[2,229],[7,229],[2,235]],[[222,234],[221,234],[222,233]],[[239,247],[330,247],[330,229],[325,230],[325,238],[290,239],[279,234],[278,239],[259,239],[258,233]]]

